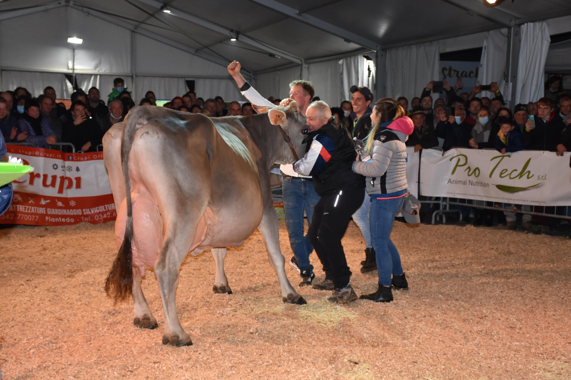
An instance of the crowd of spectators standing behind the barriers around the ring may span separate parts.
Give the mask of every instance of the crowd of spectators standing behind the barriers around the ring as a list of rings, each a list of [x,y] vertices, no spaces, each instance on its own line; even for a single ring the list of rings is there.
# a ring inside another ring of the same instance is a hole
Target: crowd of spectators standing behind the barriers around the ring
[[[414,97],[410,103],[405,97],[396,99],[415,125],[406,142],[407,146],[414,147],[414,152],[440,147],[443,150],[497,149],[501,153],[544,150],[562,155],[571,150],[571,92],[563,88],[559,76],[546,81],[544,97],[517,104],[513,109],[505,107],[504,97],[495,82],[486,88],[493,93],[490,99],[478,96],[482,92],[481,85],[470,93],[459,93],[463,86],[461,81],[452,87],[444,80],[443,97],[433,102],[434,85],[433,81],[428,83],[420,97]],[[343,122],[353,137],[364,140],[371,128],[372,100],[369,99],[372,99],[372,93],[367,97],[351,89],[349,95],[351,100],[332,107],[331,113]],[[282,101],[274,97],[268,100],[275,105]],[[316,100],[319,97],[313,97],[312,101]],[[155,93],[148,91],[138,104],[156,105]],[[116,122],[123,121],[134,106],[131,92],[121,78],[114,80],[107,102],[100,99],[96,87],[91,87],[87,93],[78,89],[71,94],[69,109],[57,101],[53,87],[46,87],[37,98],[26,88],[18,87],[14,91],[0,92],[0,130],[7,143],[48,148],[66,142],[73,144],[76,152],[93,152],[100,148],[103,134]],[[210,117],[255,113],[251,103],[235,100],[227,103],[221,96],[204,100],[194,91],[175,96],[163,107]],[[521,206],[514,206],[517,207]],[[489,210],[475,210],[472,214],[476,224],[490,224],[493,216]],[[508,227],[515,228],[515,218],[509,214],[506,213]],[[423,216],[427,216],[427,210],[423,211]],[[524,216],[522,226],[532,228],[528,215]]]

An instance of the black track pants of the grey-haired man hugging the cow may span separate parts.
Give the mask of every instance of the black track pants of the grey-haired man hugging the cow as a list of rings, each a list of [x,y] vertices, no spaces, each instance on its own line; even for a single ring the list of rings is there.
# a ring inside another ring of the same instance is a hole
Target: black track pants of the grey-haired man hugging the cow
[[[363,205],[363,189],[340,190],[322,197],[313,208],[308,236],[325,271],[335,288],[343,288],[351,279],[341,238],[347,231],[351,215]]]

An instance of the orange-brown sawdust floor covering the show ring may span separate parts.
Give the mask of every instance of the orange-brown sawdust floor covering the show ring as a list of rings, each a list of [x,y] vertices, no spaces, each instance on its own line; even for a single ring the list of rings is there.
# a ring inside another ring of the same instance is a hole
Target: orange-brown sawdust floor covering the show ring
[[[300,288],[308,305],[284,305],[259,232],[228,251],[233,295],[212,293],[210,251],[188,257],[178,315],[194,345],[175,348],[161,343],[152,272],[143,291],[158,329],[133,326],[132,302],[114,308],[103,292],[113,223],[1,228],[1,378],[571,378],[569,240],[399,222],[392,237],[411,288],[390,304],[336,307]],[[289,259],[284,222],[280,241]],[[343,244],[357,293],[374,291],[376,272],[358,271],[364,244],[352,222]]]

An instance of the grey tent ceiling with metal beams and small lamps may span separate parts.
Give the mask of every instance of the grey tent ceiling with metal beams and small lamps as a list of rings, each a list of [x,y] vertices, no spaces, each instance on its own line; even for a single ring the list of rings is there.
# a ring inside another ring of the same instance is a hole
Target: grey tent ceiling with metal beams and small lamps
[[[238,59],[251,72],[571,14],[569,0],[494,8],[481,0],[0,0],[0,21],[40,5],[69,6],[214,63]]]

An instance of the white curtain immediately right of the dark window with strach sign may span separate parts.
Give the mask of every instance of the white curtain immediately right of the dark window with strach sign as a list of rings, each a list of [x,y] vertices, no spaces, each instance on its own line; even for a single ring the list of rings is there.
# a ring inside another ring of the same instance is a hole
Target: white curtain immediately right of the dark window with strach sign
[[[497,82],[500,91],[503,91],[507,51],[508,30],[506,28],[486,33],[482,58],[480,59],[480,70],[478,71],[478,84]],[[482,91],[480,96],[492,98],[494,94],[489,91]]]

